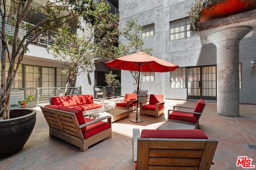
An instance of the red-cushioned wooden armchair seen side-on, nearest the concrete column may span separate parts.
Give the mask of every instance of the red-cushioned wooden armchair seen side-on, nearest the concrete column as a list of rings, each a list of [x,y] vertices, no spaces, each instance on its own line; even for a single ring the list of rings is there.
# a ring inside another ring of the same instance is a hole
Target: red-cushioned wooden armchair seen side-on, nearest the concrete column
[[[168,109],[168,121],[195,125],[196,129],[198,129],[199,119],[205,106],[206,102],[203,99],[198,100],[196,107],[173,106],[173,109]],[[194,111],[175,110],[175,107],[194,109]]]

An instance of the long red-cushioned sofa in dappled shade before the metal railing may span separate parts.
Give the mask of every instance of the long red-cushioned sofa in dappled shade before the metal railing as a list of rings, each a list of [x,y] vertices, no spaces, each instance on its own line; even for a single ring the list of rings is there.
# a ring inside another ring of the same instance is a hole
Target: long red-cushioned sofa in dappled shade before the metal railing
[[[104,101],[94,100],[92,95],[54,96],[50,99],[50,104],[80,109],[83,115],[104,110]]]

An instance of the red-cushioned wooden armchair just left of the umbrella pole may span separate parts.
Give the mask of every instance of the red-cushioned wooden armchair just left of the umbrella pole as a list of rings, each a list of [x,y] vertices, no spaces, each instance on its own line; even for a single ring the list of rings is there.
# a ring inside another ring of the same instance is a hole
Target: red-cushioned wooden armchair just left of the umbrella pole
[[[137,104],[137,94],[126,93],[124,101],[115,104],[115,109],[134,111]]]

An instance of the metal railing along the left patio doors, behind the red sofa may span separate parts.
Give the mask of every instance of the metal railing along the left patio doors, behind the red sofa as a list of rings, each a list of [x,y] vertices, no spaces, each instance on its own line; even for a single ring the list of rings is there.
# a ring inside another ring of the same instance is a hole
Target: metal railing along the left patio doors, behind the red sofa
[[[64,87],[52,87],[52,88],[13,88],[10,95],[10,106],[18,106],[19,100],[27,100],[28,105],[42,105],[49,103],[49,98],[52,96],[62,96]],[[67,96],[82,94],[80,87],[68,88]],[[28,96],[34,96],[32,101],[28,100]]]

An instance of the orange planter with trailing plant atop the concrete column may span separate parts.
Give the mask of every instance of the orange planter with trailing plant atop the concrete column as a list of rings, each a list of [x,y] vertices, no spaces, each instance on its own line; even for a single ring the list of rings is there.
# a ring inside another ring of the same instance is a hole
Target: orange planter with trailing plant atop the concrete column
[[[188,12],[190,30],[197,31],[198,23],[256,9],[255,0],[196,0]]]

